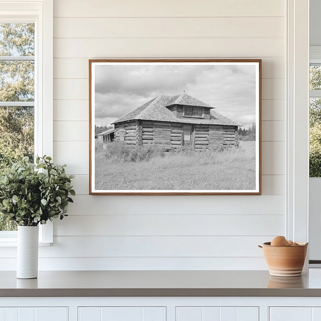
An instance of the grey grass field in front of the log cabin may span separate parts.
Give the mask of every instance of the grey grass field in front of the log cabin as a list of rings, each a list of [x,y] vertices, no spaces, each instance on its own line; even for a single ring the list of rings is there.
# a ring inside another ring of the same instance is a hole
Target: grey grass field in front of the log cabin
[[[255,142],[223,152],[184,151],[122,161],[96,148],[97,190],[253,190]]]

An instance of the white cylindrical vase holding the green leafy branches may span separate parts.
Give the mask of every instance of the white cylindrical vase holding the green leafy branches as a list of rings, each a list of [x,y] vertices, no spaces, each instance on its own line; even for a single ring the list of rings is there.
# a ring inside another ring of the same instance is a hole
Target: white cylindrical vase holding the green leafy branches
[[[17,278],[38,277],[38,226],[18,226]]]

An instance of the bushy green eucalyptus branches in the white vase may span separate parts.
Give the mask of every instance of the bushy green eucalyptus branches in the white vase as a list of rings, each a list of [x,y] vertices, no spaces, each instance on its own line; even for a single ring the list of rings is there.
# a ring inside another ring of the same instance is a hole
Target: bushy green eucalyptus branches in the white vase
[[[36,164],[22,158],[0,172],[0,213],[6,221],[22,226],[46,224],[48,220],[66,214],[70,195],[75,195],[64,165],[55,165],[51,157],[37,157]]]

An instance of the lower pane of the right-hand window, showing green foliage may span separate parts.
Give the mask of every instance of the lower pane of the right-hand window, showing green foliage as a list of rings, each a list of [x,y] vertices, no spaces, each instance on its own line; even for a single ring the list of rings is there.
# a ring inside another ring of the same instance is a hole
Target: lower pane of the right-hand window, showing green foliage
[[[310,177],[321,177],[321,99],[310,98]]]

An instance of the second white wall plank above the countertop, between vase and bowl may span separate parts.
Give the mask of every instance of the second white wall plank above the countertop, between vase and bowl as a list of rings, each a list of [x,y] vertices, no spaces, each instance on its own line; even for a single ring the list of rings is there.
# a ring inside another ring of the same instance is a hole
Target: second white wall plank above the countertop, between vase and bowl
[[[39,257],[260,257],[256,245],[270,239],[273,236],[57,236],[54,247],[39,248]]]

